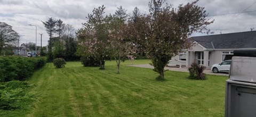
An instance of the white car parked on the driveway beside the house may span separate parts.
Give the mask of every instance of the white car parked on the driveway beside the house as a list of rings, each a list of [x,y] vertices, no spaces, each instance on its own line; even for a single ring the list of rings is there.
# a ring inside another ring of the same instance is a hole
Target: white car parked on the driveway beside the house
[[[219,64],[213,64],[211,70],[213,73],[229,72],[230,64],[231,64],[231,60],[223,61]]]

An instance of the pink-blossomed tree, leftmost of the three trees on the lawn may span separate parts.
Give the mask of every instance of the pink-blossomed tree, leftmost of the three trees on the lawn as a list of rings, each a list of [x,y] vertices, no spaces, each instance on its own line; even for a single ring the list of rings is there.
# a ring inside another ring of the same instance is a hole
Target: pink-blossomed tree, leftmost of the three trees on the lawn
[[[93,57],[100,61],[100,69],[105,69],[105,59],[109,56],[109,41],[105,6],[94,8],[92,14],[88,14],[83,28],[76,33],[78,38],[77,55]]]

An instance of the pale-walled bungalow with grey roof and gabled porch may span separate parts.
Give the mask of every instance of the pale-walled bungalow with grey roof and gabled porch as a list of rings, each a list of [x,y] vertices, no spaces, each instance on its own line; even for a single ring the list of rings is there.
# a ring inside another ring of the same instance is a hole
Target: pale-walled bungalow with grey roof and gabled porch
[[[210,68],[230,60],[235,50],[256,49],[256,31],[190,37],[193,45],[172,57],[169,65],[190,66],[193,62]]]

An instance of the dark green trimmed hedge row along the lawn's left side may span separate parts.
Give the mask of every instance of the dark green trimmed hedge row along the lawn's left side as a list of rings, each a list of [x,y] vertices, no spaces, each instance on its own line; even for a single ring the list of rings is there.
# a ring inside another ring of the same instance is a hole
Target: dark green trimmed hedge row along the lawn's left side
[[[45,63],[45,57],[0,56],[0,81],[26,80]]]

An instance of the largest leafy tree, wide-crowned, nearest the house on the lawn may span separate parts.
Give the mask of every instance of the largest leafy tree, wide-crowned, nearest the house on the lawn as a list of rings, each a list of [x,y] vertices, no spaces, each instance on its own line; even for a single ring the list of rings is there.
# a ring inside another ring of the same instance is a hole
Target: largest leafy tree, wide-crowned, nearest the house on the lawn
[[[147,15],[147,55],[152,60],[159,79],[164,79],[164,66],[179,50],[189,47],[187,37],[193,32],[209,32],[206,26],[213,21],[207,19],[204,7],[197,1],[179,5],[164,4],[164,0],[151,0]],[[206,31],[204,31],[206,30]]]

